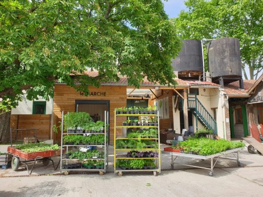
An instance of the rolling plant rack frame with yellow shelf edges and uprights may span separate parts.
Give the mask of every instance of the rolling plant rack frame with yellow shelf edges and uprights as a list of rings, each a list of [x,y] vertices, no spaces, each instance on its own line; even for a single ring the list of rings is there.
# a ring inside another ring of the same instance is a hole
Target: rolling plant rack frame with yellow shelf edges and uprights
[[[155,126],[144,126],[144,125],[140,125],[140,126],[123,126],[123,125],[116,125],[116,120],[119,117],[130,117],[130,116],[135,116],[135,117],[155,117],[157,118],[157,125]],[[152,114],[116,114],[116,110],[114,111],[114,173],[118,173],[119,176],[123,175],[123,172],[129,172],[129,171],[152,171],[153,175],[156,176],[157,172],[161,172],[161,151],[160,151],[160,129],[159,129],[159,112],[157,111],[156,113],[152,113]],[[117,137],[116,135],[116,130],[120,129],[120,128],[156,128],[157,132],[158,132],[158,137],[157,138],[128,138],[128,137]],[[154,141],[158,141],[158,148],[122,148],[119,149],[116,147],[116,142],[118,140],[128,140],[128,139],[133,139],[133,140],[154,140]],[[137,157],[137,158],[133,158],[133,157],[127,157],[127,155],[125,155],[123,152],[124,151],[155,151],[158,152],[158,156],[157,157]],[[151,169],[124,169],[124,168],[120,168],[116,166],[116,162],[118,159],[154,159],[155,160],[155,167],[151,168]]]

